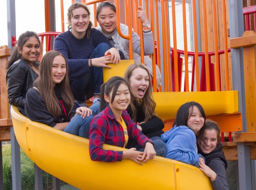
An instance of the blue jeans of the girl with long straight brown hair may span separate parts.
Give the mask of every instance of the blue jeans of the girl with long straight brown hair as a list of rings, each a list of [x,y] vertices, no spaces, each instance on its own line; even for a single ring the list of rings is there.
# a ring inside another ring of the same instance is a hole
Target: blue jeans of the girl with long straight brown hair
[[[91,105],[90,109],[93,112],[93,115],[89,117],[82,118],[80,114],[77,114],[70,122],[67,124],[64,132],[68,132],[72,135],[78,135],[80,137],[88,138],[89,137],[89,130],[90,130],[90,123],[93,120],[94,115],[99,113],[99,104],[95,103]]]

